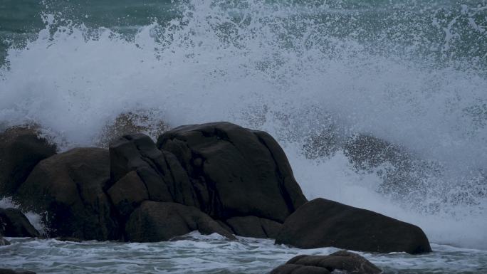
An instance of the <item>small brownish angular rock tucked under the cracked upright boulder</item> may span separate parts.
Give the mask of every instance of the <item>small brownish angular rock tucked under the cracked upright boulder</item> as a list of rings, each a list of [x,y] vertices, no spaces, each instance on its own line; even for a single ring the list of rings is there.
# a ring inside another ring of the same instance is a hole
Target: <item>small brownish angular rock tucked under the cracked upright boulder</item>
[[[127,173],[110,187],[108,196],[123,218],[130,216],[142,201],[149,199],[147,188],[135,171]]]

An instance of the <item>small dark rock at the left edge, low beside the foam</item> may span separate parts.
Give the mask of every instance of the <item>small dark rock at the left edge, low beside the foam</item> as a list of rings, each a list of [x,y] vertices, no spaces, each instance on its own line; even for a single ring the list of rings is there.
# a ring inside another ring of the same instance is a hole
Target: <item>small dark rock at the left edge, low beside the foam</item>
[[[41,236],[19,209],[0,209],[0,235],[6,237]]]

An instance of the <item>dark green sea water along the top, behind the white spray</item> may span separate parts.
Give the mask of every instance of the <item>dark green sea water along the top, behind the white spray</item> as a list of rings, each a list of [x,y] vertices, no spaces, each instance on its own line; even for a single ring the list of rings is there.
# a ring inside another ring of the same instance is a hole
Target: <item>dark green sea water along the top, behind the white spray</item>
[[[404,56],[414,53],[439,60],[440,64],[463,59],[471,65],[486,65],[485,0],[257,2],[303,12],[314,23],[327,27],[316,31],[353,38],[375,53]],[[233,10],[235,21],[241,19],[248,6],[255,4],[254,1],[212,3]],[[105,27],[133,34],[138,27],[155,20],[164,24],[179,18],[187,6],[192,6],[191,1],[4,0],[0,3],[1,58],[4,60],[9,46],[25,46],[28,39],[36,38],[38,31],[46,27],[42,16],[47,14],[61,19],[59,25],[84,24],[88,28]],[[288,31],[298,34],[299,26],[291,25]]]

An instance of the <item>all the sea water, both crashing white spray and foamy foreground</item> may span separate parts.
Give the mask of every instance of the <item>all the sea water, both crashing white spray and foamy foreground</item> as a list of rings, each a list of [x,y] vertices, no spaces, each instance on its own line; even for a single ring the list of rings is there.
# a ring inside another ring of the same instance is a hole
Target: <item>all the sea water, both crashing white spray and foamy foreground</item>
[[[218,120],[266,130],[308,199],[414,223],[434,243],[431,255],[365,254],[377,265],[487,271],[485,0],[2,0],[0,40],[0,128],[38,125],[62,149],[104,144],[127,114],[152,135]],[[347,149],[357,135],[405,156],[357,164]],[[14,242],[0,267],[41,273],[117,273],[117,263],[263,273],[330,252],[246,239]],[[80,253],[78,267],[61,263]]]

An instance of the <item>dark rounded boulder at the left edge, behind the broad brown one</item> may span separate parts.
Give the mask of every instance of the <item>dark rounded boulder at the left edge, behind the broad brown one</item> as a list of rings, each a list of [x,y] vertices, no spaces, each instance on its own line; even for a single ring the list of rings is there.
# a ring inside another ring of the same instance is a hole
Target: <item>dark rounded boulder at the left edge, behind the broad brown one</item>
[[[0,197],[14,194],[42,159],[56,154],[56,146],[26,127],[0,133]]]

